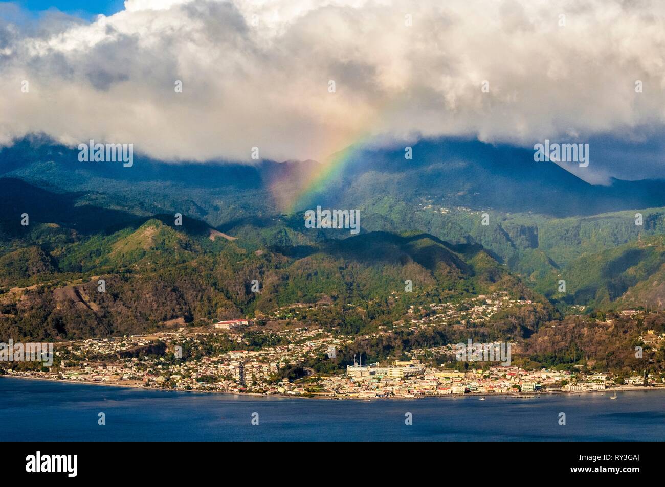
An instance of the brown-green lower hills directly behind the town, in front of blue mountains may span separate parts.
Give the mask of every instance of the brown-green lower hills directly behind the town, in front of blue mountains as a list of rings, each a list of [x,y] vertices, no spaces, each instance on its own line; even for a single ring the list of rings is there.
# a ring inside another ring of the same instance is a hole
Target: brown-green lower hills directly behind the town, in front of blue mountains
[[[3,224],[1,336],[70,340],[146,332],[169,322],[261,316],[321,300],[341,312],[327,318],[330,326],[360,330],[392,323],[408,303],[495,291],[528,296],[554,313],[475,244],[422,233],[327,239],[294,231],[297,245],[285,239],[260,246],[195,219],[177,225],[172,215],[140,218],[120,211],[112,213],[112,226],[103,219],[80,225],[79,216],[103,209],[13,179],[0,184],[20,191],[19,207],[33,213],[27,227]],[[60,206],[47,208],[46,201]],[[259,281],[260,292],[251,290],[252,280]],[[405,292],[407,280],[412,292]],[[360,310],[373,300],[384,306],[368,318]]]

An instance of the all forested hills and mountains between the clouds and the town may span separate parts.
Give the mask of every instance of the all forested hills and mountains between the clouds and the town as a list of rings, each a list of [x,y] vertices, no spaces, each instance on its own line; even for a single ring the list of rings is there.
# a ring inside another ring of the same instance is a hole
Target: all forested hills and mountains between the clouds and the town
[[[356,343],[336,364],[361,350],[368,359],[402,357],[471,334],[541,343],[525,359],[565,365],[588,358],[594,343],[607,354],[614,342],[600,334],[582,340],[583,321],[552,328],[559,311],[665,305],[658,181],[591,186],[554,164],[533,165],[529,151],[468,141],[423,142],[406,163],[400,150],[353,153],[321,191],[303,193],[300,181],[314,163],[139,160],[128,170],[80,165],[75,151],[43,140],[2,149],[0,340],[132,334],[239,316],[265,321],[296,303],[325,303],[301,308],[299,320],[366,334],[400,320],[412,304],[505,290],[533,306],[466,330]],[[316,205],[359,209],[362,232],[306,229],[303,212]],[[21,225],[24,213],[29,225]],[[404,292],[406,280],[413,292]],[[250,347],[280,343],[265,332],[250,338]],[[593,353],[616,365],[618,355],[600,355]],[[331,366],[315,362],[308,366]]]

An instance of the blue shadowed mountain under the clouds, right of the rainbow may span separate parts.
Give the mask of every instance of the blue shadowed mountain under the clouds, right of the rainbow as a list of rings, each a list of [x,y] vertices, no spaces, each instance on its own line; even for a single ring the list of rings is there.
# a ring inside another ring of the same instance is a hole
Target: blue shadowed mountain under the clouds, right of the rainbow
[[[336,181],[311,197],[309,206],[367,204],[380,196],[400,201],[551,217],[595,215],[665,205],[664,181],[591,185],[552,162],[535,162],[533,150],[477,140],[424,140],[413,159],[398,149],[357,149]]]

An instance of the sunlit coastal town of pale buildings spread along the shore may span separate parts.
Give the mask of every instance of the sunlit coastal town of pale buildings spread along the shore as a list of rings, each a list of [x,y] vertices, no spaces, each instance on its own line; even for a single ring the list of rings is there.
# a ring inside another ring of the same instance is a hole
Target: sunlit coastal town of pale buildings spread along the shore
[[[455,367],[460,349],[454,343],[411,349],[408,357],[385,363],[367,363],[366,356],[359,353],[352,363],[340,365],[332,373],[317,373],[307,366],[315,357],[334,361],[347,345],[385,336],[395,328],[422,330],[442,322],[489,320],[502,308],[522,304],[529,302],[503,294],[479,296],[462,304],[433,303],[428,306],[434,310],[431,316],[423,317],[411,310],[410,319],[395,322],[392,330],[379,329],[366,336],[344,336],[307,326],[297,320],[303,309],[296,306],[274,313],[272,318],[296,318],[285,328],[257,330],[261,327],[248,318],[219,320],[194,328],[181,326],[144,336],[72,341],[57,345],[51,367],[16,367],[5,369],[5,373],[176,391],[329,399],[500,394],[533,397],[539,393],[665,387],[662,376],[648,373],[619,380],[602,371],[525,370],[509,361],[501,362],[499,355],[491,361],[481,357],[465,367]],[[640,339],[659,344],[665,336],[650,334]]]

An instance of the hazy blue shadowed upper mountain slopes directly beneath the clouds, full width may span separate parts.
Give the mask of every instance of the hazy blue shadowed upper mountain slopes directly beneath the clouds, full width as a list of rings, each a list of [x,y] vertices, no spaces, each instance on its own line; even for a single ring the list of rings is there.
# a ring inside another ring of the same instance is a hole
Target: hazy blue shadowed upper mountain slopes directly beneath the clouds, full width
[[[305,193],[293,207],[362,208],[382,197],[407,203],[553,217],[665,205],[662,180],[591,185],[553,162],[536,162],[533,150],[477,140],[430,140],[412,146],[350,147],[317,191],[307,184],[321,171],[316,161],[164,162],[135,157],[133,167],[79,162],[78,151],[43,138],[0,150],[0,174],[56,191],[93,191],[125,198],[136,211],[155,213],[180,205],[192,217],[220,225],[235,217],[288,211],[283,201]],[[591,165],[594,164],[593,158]],[[146,198],[136,198],[145,195]]]

